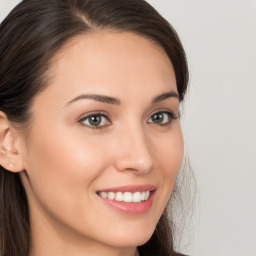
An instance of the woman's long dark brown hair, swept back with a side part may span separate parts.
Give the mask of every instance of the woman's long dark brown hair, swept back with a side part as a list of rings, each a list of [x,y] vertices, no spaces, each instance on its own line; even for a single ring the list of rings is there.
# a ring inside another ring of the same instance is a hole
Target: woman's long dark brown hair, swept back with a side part
[[[94,31],[131,32],[168,55],[182,102],[188,85],[186,56],[172,26],[144,0],[23,0],[0,25],[0,111],[27,131],[34,97],[47,86],[52,60],[70,39]],[[141,256],[178,255],[167,207]],[[31,250],[29,204],[19,174],[0,166],[0,255]]]

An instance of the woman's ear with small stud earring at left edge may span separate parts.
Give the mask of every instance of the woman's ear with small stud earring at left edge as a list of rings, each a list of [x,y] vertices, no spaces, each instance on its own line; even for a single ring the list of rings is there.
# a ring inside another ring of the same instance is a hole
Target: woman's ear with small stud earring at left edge
[[[21,138],[17,130],[0,111],[0,165],[10,172],[24,171]]]

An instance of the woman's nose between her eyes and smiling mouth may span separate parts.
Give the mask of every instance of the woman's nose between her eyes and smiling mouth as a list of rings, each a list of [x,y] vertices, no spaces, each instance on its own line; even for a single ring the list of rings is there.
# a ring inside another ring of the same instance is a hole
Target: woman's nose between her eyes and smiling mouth
[[[118,171],[147,174],[154,161],[149,139],[143,129],[133,126],[118,135],[114,166]]]

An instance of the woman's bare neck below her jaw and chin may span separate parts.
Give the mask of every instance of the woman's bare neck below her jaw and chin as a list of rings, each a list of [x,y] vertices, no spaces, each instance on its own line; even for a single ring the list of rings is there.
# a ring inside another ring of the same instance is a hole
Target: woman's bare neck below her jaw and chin
[[[37,217],[39,217],[37,215]],[[42,215],[41,215],[42,217]],[[60,223],[31,219],[32,250],[29,256],[136,256],[136,246],[115,247],[85,238]]]

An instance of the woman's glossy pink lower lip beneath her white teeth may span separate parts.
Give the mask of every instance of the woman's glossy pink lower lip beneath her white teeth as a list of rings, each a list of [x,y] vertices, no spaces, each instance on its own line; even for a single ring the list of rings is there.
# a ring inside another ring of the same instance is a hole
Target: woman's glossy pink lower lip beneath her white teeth
[[[130,214],[140,214],[140,213],[147,212],[151,208],[153,204],[154,193],[155,191],[150,192],[150,196],[148,200],[141,201],[140,203],[125,203],[125,202],[119,202],[115,200],[109,200],[101,196],[99,197],[108,206],[118,211],[121,211],[124,213],[130,213]]]

